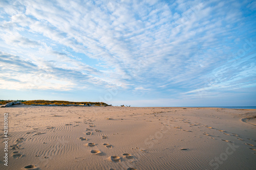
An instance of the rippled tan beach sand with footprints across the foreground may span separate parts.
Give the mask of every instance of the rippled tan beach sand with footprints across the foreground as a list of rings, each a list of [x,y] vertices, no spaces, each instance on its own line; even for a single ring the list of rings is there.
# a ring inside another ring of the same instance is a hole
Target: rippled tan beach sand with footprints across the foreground
[[[0,169],[256,167],[252,109],[13,106],[0,115]]]

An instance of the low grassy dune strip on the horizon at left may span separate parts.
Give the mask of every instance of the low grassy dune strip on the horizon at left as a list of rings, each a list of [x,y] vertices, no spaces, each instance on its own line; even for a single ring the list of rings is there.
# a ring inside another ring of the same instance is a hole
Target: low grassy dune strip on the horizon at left
[[[0,100],[0,105],[5,105],[13,100]],[[45,100],[34,100],[34,101],[24,101],[24,100],[16,100],[25,105],[95,105],[95,106],[109,106],[103,102],[69,102],[69,101],[45,101]]]

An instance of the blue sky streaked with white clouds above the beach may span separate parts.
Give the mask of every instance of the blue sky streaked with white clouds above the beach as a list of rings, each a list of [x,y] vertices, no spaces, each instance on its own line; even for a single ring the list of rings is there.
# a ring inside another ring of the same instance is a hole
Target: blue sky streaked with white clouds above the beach
[[[256,1],[0,1],[0,99],[256,106]]]

